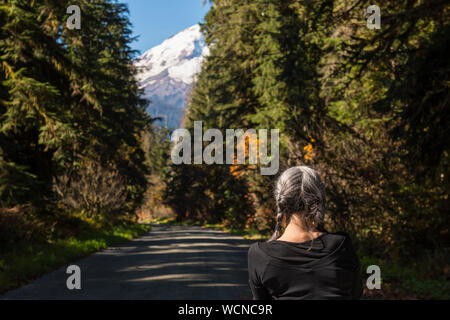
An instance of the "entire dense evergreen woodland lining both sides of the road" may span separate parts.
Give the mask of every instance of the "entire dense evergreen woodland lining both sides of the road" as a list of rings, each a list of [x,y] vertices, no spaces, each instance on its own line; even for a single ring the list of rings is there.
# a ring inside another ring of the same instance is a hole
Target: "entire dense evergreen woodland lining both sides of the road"
[[[380,1],[379,30],[366,27],[365,0],[211,2],[211,54],[184,126],[280,129],[280,171],[323,177],[327,229],[448,280],[448,2]],[[80,30],[65,27],[73,4]],[[132,41],[113,0],[0,0],[0,250],[161,204],[178,220],[272,230],[276,177],[171,163]]]

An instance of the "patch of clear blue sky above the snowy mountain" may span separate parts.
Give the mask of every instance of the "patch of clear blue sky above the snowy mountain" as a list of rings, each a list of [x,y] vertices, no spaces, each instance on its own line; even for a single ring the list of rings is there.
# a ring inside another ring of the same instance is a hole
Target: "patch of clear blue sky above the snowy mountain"
[[[133,49],[144,53],[174,34],[203,22],[210,4],[202,0],[120,0],[128,4],[134,35]]]

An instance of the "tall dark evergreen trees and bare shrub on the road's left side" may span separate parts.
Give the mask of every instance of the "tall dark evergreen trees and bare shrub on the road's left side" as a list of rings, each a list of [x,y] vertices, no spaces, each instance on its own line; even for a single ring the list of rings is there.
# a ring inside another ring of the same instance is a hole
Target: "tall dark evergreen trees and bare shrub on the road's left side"
[[[74,4],[80,30],[66,27]],[[73,229],[74,214],[109,223],[140,206],[152,120],[131,33],[115,1],[0,1],[2,246]]]

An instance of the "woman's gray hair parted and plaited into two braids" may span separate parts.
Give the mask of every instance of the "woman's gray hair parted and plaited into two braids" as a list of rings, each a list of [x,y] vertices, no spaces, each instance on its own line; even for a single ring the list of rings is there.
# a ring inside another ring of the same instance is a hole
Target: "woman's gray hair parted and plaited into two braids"
[[[325,186],[314,169],[306,166],[284,171],[275,185],[277,219],[269,241],[281,236],[281,223],[293,214],[299,215],[308,231],[323,229],[325,218]]]

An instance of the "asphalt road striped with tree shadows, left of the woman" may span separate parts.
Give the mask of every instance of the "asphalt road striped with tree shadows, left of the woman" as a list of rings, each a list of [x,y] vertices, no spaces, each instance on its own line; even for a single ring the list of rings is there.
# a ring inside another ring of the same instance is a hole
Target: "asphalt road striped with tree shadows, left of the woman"
[[[72,264],[81,290],[66,286],[67,266],[1,299],[251,299],[250,241],[200,227],[152,225],[147,235]]]

